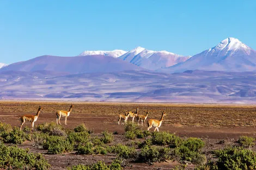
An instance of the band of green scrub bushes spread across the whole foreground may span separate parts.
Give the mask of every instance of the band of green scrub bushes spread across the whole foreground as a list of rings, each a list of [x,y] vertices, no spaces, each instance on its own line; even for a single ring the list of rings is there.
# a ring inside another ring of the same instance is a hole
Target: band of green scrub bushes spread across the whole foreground
[[[179,137],[167,131],[150,132],[137,124],[124,126],[123,140],[119,142],[117,133],[103,131],[94,134],[80,124],[74,130],[65,129],[56,123],[36,126],[36,131],[27,128],[19,130],[9,124],[0,123],[0,168],[5,169],[50,169],[51,165],[43,154],[23,149],[22,143],[29,141],[44,154],[115,155],[112,163],[97,161],[88,165],[68,166],[66,169],[124,169],[127,164],[177,161],[172,169],[196,170],[253,170],[256,169],[254,138],[241,136],[239,140],[221,149],[208,150],[205,142],[195,137]],[[120,136],[120,135],[119,135]],[[223,145],[220,141],[218,144]],[[127,163],[128,162],[128,163]],[[193,165],[193,166],[190,166]]]

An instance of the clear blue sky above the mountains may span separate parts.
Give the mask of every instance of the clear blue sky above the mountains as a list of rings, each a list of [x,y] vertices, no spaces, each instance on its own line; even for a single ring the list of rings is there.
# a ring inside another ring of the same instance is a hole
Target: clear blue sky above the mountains
[[[256,1],[0,0],[0,62],[141,46],[194,55],[227,37],[256,49]]]

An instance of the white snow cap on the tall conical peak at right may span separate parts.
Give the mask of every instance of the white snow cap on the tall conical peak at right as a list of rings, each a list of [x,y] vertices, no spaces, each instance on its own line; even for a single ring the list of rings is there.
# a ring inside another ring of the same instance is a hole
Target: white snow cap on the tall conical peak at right
[[[222,40],[220,43],[218,43],[217,46],[214,48],[210,48],[209,52],[212,50],[216,51],[222,51],[224,49],[227,49],[227,51],[236,51],[237,49],[249,49],[248,46],[246,46],[244,43],[239,41],[238,39],[235,39],[234,37],[228,37],[225,40]]]

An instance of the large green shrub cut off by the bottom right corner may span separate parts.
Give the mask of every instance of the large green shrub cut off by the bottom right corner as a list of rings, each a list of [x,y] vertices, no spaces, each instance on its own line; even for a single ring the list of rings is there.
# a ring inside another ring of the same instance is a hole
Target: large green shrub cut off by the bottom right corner
[[[241,147],[228,147],[216,150],[217,167],[222,170],[253,170],[256,169],[256,153]]]

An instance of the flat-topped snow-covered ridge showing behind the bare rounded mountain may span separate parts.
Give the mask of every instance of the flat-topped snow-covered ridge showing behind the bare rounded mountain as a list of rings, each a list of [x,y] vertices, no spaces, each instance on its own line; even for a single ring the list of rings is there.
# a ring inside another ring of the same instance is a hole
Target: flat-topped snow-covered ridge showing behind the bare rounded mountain
[[[113,58],[118,58],[119,56],[127,53],[121,49],[115,49],[113,51],[84,51],[78,56],[86,56],[86,55],[107,55],[112,56]]]

